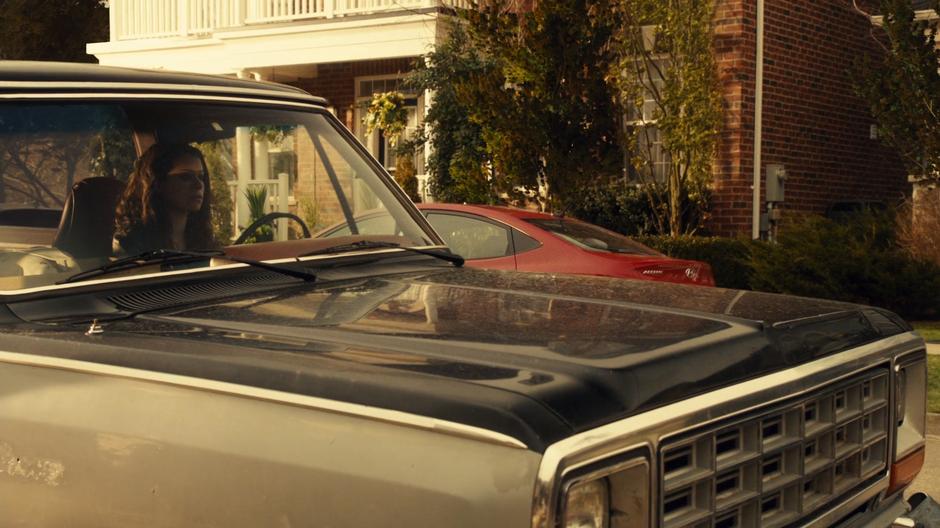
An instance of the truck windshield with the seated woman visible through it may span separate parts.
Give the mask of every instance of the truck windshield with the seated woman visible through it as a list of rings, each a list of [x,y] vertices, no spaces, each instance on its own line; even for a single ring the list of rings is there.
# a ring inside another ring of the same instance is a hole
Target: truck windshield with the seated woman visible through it
[[[0,290],[53,285],[141,251],[299,255],[325,230],[359,235],[365,211],[390,220],[369,235],[434,245],[340,130],[314,107],[0,104]]]

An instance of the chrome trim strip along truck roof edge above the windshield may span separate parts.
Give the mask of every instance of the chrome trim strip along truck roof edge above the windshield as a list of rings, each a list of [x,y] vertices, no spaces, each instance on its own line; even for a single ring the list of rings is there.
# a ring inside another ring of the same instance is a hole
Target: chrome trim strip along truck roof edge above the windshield
[[[175,84],[175,83],[130,83],[108,81],[0,81],[0,89],[17,90],[135,90],[151,92],[180,92],[187,94],[245,94],[281,99],[299,99],[310,101],[321,106],[326,105],[326,99],[317,97],[300,90],[296,92],[282,90],[267,90],[265,88],[247,88],[237,86],[216,86],[211,84]],[[92,95],[92,94],[82,94]]]

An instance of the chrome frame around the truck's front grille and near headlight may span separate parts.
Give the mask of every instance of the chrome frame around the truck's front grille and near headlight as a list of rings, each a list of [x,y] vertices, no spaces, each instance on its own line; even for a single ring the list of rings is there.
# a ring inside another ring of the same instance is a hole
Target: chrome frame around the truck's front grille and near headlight
[[[653,456],[659,445],[670,437],[750,411],[774,405],[810,393],[839,380],[854,376],[877,364],[893,366],[897,357],[923,349],[923,339],[913,332],[868,343],[804,365],[761,376],[729,387],[701,394],[636,416],[585,431],[550,445],[542,457],[532,503],[533,528],[551,528],[559,521],[557,505],[566,476],[579,467],[592,464],[638,448]],[[892,399],[893,401],[893,399]],[[891,418],[893,419],[893,412]],[[890,422],[889,422],[890,423]],[[893,450],[893,435],[889,452]],[[660,476],[651,461],[650,497],[659,501]],[[824,513],[810,525],[837,518],[865,500],[875,497],[888,486],[888,475],[858,495]],[[658,522],[658,512],[650,519]]]

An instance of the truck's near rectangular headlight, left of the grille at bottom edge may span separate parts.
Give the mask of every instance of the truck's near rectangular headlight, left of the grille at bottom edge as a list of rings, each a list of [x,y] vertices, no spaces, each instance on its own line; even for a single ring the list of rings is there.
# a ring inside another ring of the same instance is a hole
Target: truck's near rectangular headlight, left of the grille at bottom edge
[[[646,527],[650,464],[646,457],[572,476],[564,495],[564,528]]]

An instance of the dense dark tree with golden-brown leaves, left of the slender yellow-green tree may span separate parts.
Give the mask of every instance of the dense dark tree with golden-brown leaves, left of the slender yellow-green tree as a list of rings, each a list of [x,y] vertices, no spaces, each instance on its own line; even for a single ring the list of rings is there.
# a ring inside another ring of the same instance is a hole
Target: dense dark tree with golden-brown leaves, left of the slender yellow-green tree
[[[621,109],[608,75],[621,25],[608,0],[502,4],[468,12],[473,43],[494,68],[458,86],[472,98],[494,168],[543,207],[564,211],[581,186],[621,171]]]

